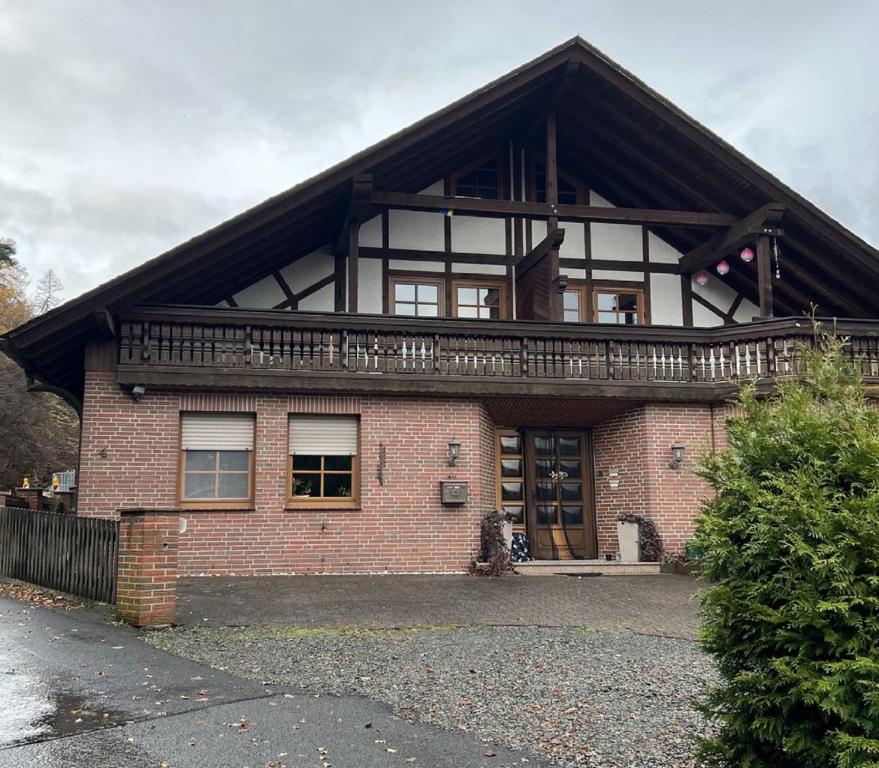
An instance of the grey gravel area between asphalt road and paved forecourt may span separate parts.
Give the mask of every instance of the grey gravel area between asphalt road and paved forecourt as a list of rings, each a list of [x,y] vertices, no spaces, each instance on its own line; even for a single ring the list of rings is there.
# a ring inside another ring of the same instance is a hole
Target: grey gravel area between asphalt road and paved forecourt
[[[361,695],[532,762],[692,766],[710,660],[686,639],[577,627],[183,628],[153,644],[314,694]]]

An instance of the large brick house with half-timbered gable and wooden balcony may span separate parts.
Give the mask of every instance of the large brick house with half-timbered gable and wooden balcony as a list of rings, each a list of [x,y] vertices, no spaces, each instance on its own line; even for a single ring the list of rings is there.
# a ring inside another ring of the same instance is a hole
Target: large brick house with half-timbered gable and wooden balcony
[[[877,256],[575,38],[3,348],[81,413],[79,514],[181,510],[184,573],[461,571],[491,510],[674,554],[813,304],[879,373]]]

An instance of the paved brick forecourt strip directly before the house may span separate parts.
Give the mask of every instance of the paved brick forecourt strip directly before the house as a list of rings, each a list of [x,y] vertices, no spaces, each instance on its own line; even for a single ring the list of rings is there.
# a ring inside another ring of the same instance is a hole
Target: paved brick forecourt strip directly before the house
[[[178,624],[583,626],[695,636],[688,576],[260,576],[182,579]]]

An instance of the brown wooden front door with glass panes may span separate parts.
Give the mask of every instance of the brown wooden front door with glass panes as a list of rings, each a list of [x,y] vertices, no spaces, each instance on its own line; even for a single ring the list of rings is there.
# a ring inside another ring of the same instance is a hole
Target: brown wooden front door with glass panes
[[[598,557],[587,432],[525,433],[526,510],[538,560]]]

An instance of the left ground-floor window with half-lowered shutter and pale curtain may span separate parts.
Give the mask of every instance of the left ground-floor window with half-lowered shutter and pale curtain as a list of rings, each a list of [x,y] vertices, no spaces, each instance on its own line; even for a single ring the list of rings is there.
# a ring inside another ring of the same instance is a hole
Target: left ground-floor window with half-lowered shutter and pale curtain
[[[240,506],[253,499],[251,414],[184,413],[180,425],[180,502]]]

